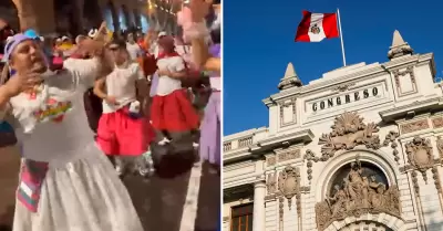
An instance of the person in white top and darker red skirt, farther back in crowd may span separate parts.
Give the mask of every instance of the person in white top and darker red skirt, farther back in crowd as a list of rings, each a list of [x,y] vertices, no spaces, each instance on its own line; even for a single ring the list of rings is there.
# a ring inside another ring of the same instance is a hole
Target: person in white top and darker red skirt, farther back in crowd
[[[164,35],[158,40],[158,44],[163,53],[157,60],[158,85],[151,109],[157,144],[165,146],[171,141],[184,144],[183,140],[192,140],[183,147],[188,147],[188,144],[192,145],[190,147],[198,147],[193,137],[198,129],[199,118],[181,81],[188,76],[185,62],[175,52],[174,38]],[[185,137],[190,137],[190,139]]]

